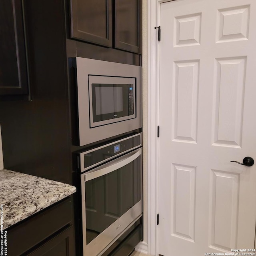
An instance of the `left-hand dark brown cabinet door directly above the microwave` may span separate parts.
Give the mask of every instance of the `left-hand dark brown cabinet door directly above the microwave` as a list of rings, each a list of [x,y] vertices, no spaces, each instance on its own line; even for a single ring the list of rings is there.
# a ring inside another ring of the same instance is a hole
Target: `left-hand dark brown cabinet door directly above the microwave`
[[[72,38],[112,47],[111,0],[71,0]]]

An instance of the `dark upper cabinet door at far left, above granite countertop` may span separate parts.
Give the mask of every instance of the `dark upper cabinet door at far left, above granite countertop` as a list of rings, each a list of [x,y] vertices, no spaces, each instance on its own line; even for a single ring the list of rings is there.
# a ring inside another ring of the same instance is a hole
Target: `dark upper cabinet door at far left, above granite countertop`
[[[28,94],[21,0],[0,1],[0,95]]]

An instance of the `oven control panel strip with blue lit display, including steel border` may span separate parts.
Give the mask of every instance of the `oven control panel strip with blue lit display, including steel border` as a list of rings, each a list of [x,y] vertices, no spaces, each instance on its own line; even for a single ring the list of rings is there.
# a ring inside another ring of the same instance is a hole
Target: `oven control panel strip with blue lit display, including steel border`
[[[81,172],[140,146],[142,146],[141,133],[80,153]]]

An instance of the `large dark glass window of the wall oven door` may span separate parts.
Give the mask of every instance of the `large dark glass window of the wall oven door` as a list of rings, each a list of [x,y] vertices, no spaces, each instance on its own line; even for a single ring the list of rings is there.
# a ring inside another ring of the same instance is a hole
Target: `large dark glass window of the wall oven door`
[[[126,166],[85,182],[86,244],[141,199],[140,156]]]

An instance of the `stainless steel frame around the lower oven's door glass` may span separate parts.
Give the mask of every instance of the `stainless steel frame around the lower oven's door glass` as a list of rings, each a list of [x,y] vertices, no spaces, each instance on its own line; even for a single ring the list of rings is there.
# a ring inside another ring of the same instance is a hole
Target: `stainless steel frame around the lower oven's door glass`
[[[140,156],[142,149],[140,148]],[[134,152],[131,152],[134,153]],[[138,157],[138,156],[137,156]],[[113,162],[113,161],[111,161]],[[109,163],[110,164],[110,163]],[[106,165],[106,164],[104,164]],[[104,165],[102,166],[104,168]],[[114,171],[114,170],[113,170]],[[142,214],[142,158],[140,159],[140,201],[130,208],[125,214],[112,223],[106,230],[99,234],[89,244],[86,244],[86,202],[85,202],[85,181],[81,174],[81,193],[82,193],[82,231],[83,231],[83,251],[84,256],[100,256],[113,244]],[[120,228],[120,224],[126,223]],[[116,230],[118,232],[116,232]],[[96,251],[95,251],[95,248]]]

